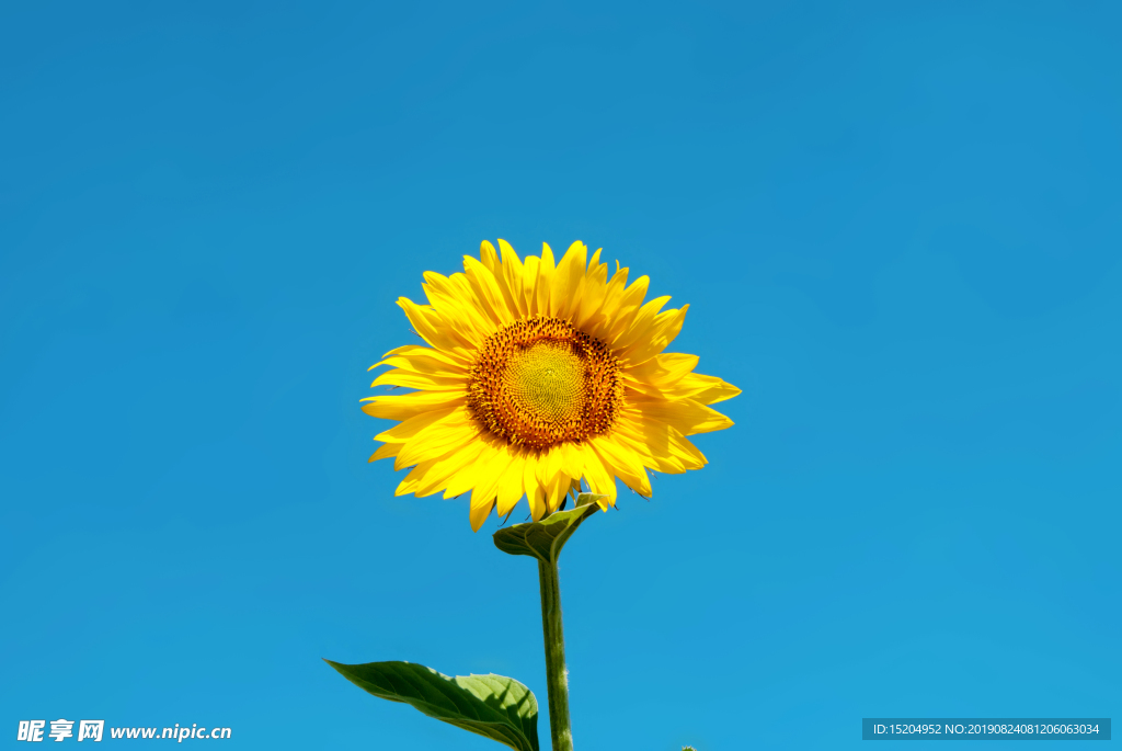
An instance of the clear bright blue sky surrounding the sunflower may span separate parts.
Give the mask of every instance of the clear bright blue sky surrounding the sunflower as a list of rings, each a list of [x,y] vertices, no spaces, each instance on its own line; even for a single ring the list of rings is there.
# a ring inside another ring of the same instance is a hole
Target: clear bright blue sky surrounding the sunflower
[[[578,748],[1122,715],[1120,28],[7,3],[0,744],[66,717],[499,748],[321,657],[544,705],[533,564],[466,500],[394,498],[359,411],[412,340],[396,297],[498,237],[649,274],[691,305],[677,349],[744,388],[706,469],[562,558]]]

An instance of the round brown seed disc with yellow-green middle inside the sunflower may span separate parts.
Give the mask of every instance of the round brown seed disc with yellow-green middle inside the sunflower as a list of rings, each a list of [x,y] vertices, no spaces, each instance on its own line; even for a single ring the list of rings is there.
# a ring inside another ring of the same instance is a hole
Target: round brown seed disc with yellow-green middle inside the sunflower
[[[557,318],[516,321],[479,348],[468,406],[513,446],[544,449],[603,433],[623,403],[619,360]]]

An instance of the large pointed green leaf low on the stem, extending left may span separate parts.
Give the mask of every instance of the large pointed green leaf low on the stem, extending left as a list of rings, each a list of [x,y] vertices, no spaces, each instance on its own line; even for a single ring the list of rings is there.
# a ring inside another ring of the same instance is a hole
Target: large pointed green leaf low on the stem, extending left
[[[494,674],[451,678],[413,662],[324,662],[368,694],[404,702],[517,751],[537,751],[537,699],[514,678]]]

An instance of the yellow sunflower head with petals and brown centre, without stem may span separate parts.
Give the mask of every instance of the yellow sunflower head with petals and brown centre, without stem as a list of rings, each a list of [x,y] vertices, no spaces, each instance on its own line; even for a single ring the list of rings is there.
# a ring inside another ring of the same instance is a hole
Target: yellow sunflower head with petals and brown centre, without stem
[[[370,457],[412,467],[396,495],[471,492],[476,531],[496,509],[525,497],[533,518],[561,507],[587,486],[616,503],[616,478],[651,497],[647,470],[700,469],[706,458],[686,437],[733,421],[707,406],[741,393],[693,373],[693,355],[664,352],[689,305],[644,303],[650,280],[608,278],[600,251],[573,242],[560,262],[519,259],[505,240],[488,241],[463,273],[424,274],[427,305],[397,304],[429,345],[386,352],[392,366],[374,386],[410,393],[370,396],[362,410],[398,421]]]

